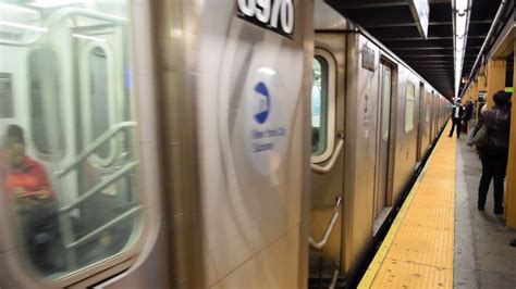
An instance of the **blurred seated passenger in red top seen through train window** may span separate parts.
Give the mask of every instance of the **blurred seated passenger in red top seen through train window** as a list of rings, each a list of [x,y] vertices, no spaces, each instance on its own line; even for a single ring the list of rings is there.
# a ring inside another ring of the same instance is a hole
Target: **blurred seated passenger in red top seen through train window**
[[[10,125],[3,139],[2,184],[14,203],[29,260],[41,273],[57,269],[60,233],[54,193],[41,164],[25,155],[23,130]]]

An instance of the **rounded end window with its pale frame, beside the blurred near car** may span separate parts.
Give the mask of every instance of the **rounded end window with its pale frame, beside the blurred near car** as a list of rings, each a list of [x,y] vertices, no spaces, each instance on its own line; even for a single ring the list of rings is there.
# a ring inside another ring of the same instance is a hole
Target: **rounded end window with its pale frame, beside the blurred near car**
[[[335,63],[333,56],[316,49],[311,86],[311,161],[324,162],[333,152],[335,135]]]

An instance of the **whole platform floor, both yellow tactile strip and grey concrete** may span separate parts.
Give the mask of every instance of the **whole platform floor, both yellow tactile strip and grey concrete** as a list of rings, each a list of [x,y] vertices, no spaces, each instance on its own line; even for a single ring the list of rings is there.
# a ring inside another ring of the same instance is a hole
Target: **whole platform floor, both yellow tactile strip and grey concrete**
[[[359,288],[516,288],[516,231],[492,214],[492,191],[477,211],[480,161],[447,128]]]

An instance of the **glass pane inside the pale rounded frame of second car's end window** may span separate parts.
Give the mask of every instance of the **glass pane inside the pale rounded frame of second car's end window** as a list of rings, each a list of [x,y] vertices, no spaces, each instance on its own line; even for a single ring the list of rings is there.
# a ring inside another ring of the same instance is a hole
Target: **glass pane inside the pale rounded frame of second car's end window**
[[[312,62],[311,86],[311,152],[320,155],[327,148],[328,134],[328,63],[316,55]]]

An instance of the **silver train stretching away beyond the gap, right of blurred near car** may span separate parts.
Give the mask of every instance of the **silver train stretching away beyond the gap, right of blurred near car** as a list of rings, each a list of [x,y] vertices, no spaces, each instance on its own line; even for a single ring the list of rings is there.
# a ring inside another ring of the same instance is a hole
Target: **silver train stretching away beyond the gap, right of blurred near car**
[[[309,264],[320,286],[356,272],[450,110],[421,76],[325,3],[316,2],[314,28]]]

